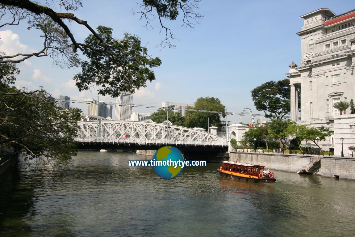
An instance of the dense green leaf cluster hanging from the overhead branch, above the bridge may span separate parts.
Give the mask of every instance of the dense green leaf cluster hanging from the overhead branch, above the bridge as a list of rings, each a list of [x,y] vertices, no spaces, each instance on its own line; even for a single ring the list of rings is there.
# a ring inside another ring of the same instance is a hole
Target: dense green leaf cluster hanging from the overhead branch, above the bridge
[[[84,48],[83,54],[89,60],[81,62],[82,72],[74,77],[80,91],[97,85],[101,87],[98,94],[118,97],[120,92],[134,93],[136,88],[146,87],[147,80],[155,80],[149,68],[162,62],[147,55],[147,48],[140,46],[139,38],[125,34],[122,40],[116,41],[111,28],[100,26],[97,31],[103,39],[102,45],[97,45],[93,34],[86,38],[85,44],[90,48]]]

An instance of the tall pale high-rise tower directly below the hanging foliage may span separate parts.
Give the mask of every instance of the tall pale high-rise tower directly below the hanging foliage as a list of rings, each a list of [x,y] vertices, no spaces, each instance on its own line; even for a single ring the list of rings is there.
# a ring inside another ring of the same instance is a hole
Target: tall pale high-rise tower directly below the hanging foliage
[[[131,118],[133,96],[130,92],[121,92],[116,98],[115,120]]]

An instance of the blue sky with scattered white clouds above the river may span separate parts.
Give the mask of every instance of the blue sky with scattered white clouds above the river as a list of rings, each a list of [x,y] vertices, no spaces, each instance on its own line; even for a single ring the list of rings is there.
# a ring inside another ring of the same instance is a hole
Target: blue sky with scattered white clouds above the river
[[[113,36],[122,38],[125,32],[141,38],[148,54],[159,57],[162,65],[155,68],[156,79],[147,82],[133,95],[133,104],[162,106],[163,101],[193,104],[199,97],[219,98],[228,112],[241,113],[244,108],[257,111],[251,98],[253,88],[271,80],[282,80],[288,73],[292,60],[300,65],[301,31],[303,19],[299,16],[320,8],[329,8],[335,14],[354,9],[353,1],[211,1],[198,3],[203,18],[193,29],[181,27],[182,18],[166,21],[177,40],[175,48],[161,49],[157,45],[164,39],[157,19],[153,28],[146,28],[140,21],[137,1],[83,1],[83,7],[74,12],[93,28],[113,28]],[[54,9],[60,12],[60,9]],[[89,31],[72,22],[69,28],[78,42]],[[40,32],[28,30],[26,22],[18,26],[6,26],[0,32],[0,51],[7,55],[28,53],[41,49]],[[79,52],[80,53],[80,52]],[[53,97],[69,96],[74,100],[97,99],[96,91],[79,91],[73,75],[80,68],[54,67],[49,57],[30,58],[17,64],[21,70],[16,86],[36,90],[43,86]],[[100,101],[113,102],[109,96]],[[87,113],[84,103],[71,103]],[[133,107],[132,112],[153,113],[153,108]],[[258,118],[258,117],[257,117]],[[256,118],[256,119],[257,119]],[[230,115],[228,120],[238,123],[240,115]],[[231,122],[231,123],[233,123]],[[245,116],[244,123],[251,117]]]

